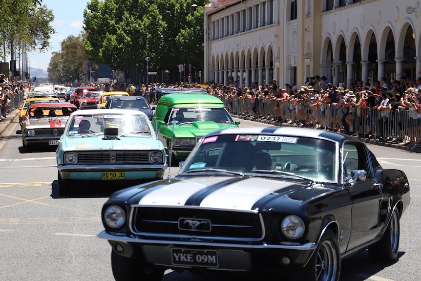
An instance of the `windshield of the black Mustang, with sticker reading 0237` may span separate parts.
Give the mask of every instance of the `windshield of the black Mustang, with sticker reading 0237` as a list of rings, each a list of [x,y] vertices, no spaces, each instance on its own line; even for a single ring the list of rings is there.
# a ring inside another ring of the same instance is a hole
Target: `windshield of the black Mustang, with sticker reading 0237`
[[[240,172],[336,182],[336,151],[334,142],[301,136],[210,136],[191,152],[180,173]]]

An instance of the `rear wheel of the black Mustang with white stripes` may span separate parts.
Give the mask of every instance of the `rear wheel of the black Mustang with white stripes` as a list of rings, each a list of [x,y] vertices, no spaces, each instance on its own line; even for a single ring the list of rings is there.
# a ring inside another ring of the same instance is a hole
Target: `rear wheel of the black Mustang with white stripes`
[[[395,209],[381,240],[368,249],[370,259],[374,261],[391,261],[398,258],[400,239],[399,219],[399,212]]]

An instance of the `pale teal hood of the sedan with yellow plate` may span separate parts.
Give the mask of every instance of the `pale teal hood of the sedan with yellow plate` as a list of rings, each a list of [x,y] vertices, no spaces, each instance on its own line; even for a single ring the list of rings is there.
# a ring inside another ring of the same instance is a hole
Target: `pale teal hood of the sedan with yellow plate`
[[[67,151],[98,150],[162,150],[160,142],[152,137],[127,135],[118,138],[104,139],[104,135],[62,138],[63,148]]]

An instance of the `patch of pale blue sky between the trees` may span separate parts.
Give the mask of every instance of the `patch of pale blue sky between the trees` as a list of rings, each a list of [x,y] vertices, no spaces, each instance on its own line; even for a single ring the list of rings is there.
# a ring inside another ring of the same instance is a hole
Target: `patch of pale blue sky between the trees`
[[[78,36],[83,31],[84,9],[90,0],[42,0],[42,5],[53,11],[54,22],[52,27],[56,30],[51,35],[50,49],[45,53],[38,50],[29,53],[29,66],[47,70],[51,53],[61,50],[62,41],[70,35]]]

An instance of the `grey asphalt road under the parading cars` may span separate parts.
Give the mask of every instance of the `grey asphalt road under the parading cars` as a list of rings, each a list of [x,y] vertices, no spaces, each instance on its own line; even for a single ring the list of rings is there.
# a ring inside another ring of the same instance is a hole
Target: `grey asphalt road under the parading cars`
[[[242,120],[240,127],[256,124]],[[257,124],[258,126],[267,126]],[[13,120],[0,137],[0,281],[111,281],[108,243],[96,237],[103,230],[100,212],[113,186],[79,185],[76,193],[57,193],[55,148],[21,152],[19,124]],[[362,252],[342,262],[340,281],[421,280],[420,154],[369,145],[384,168],[407,173],[412,200],[401,218],[399,259],[374,263]],[[177,167],[171,167],[175,175]],[[166,175],[167,176],[167,175]],[[165,177],[166,177],[165,176]],[[167,271],[164,281],[278,280],[282,276],[201,276]]]

